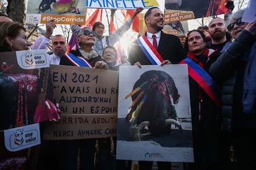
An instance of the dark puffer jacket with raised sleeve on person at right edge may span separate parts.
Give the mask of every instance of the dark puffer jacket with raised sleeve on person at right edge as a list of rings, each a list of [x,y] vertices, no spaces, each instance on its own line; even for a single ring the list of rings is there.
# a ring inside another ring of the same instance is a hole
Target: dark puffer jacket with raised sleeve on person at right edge
[[[223,85],[221,116],[225,132],[231,132],[233,128],[256,127],[256,107],[254,107],[254,113],[242,113],[245,68],[245,61],[242,58],[245,52],[255,51],[251,49],[254,42],[255,36],[243,30],[209,70],[213,79]]]

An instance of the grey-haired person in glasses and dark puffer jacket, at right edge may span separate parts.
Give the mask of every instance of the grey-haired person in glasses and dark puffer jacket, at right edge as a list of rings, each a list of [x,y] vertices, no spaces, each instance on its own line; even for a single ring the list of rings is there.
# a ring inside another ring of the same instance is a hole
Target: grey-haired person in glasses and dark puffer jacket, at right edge
[[[244,11],[237,10],[228,18],[234,41],[209,73],[223,87],[222,127],[231,139],[237,169],[256,169],[256,21],[242,22]]]

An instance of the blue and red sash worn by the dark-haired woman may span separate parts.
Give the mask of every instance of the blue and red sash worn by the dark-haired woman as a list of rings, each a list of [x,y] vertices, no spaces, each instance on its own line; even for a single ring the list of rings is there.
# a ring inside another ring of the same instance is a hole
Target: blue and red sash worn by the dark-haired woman
[[[218,86],[216,85],[213,78],[211,78],[208,73],[203,70],[197,63],[195,63],[192,59],[187,57],[182,60],[180,63],[187,63],[189,76],[193,78],[200,87],[202,87],[203,91],[205,91],[208,96],[216,103],[216,105],[220,106],[220,99],[218,95]]]

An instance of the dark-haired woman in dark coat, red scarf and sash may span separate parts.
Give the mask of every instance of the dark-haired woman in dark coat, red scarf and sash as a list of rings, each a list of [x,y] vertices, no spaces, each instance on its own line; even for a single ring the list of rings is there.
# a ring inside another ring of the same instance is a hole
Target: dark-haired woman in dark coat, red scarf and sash
[[[208,75],[208,69],[220,53],[206,47],[205,35],[200,30],[189,31],[186,41],[189,52],[181,63],[189,67],[194,146],[194,163],[187,164],[187,169],[219,169],[220,99],[218,86]]]

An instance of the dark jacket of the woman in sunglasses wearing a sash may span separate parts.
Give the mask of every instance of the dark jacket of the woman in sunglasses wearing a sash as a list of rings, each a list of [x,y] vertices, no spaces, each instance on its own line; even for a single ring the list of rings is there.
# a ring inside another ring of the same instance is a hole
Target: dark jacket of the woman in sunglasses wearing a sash
[[[71,50],[70,53],[74,54],[75,56],[82,56],[82,54],[79,52],[79,49],[76,49],[75,51]],[[98,57],[92,58],[88,61],[94,67],[96,62],[105,61],[105,60],[103,60],[102,57],[100,55],[98,55]],[[72,62],[70,62],[69,59],[66,58],[66,55],[63,55],[61,57],[61,61],[59,62],[59,65],[72,65],[72,66],[74,66],[74,64]]]

